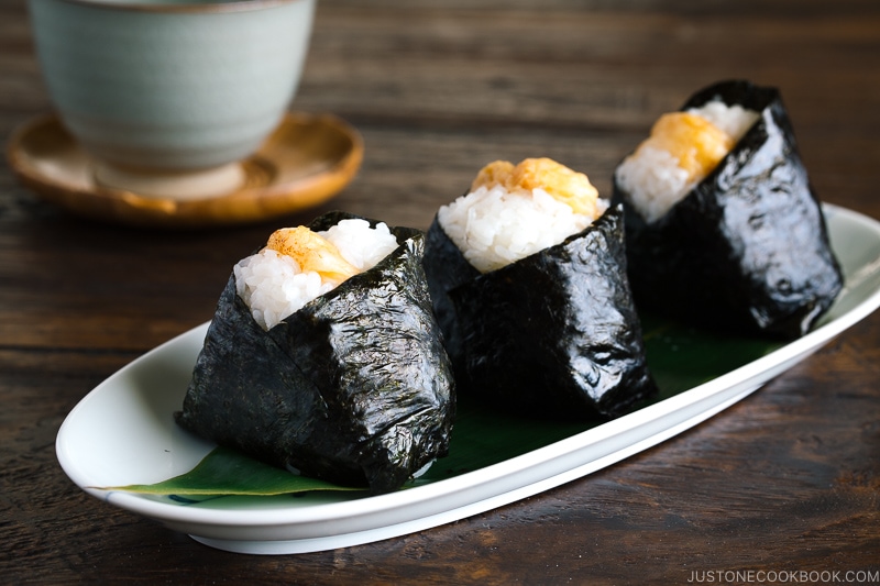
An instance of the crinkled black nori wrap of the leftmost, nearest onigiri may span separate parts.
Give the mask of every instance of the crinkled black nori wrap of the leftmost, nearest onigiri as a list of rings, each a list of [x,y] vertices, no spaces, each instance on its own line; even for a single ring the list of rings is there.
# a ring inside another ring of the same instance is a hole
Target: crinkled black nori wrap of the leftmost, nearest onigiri
[[[333,212],[310,228],[353,215]],[[375,225],[375,221],[371,221]],[[223,290],[178,423],[271,464],[374,494],[443,456],[454,383],[421,257],[422,232],[264,331]]]

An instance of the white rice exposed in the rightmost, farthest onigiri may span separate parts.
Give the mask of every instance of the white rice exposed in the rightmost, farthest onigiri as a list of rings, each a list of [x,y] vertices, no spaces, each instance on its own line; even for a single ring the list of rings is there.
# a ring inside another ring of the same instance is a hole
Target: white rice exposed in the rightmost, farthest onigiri
[[[735,142],[748,132],[760,114],[741,106],[727,106],[721,100],[692,108],[689,113],[703,117],[723,130]],[[646,222],[659,220],[694,188],[688,172],[679,167],[679,159],[667,151],[646,145],[617,167],[617,184],[629,194],[629,202]]]

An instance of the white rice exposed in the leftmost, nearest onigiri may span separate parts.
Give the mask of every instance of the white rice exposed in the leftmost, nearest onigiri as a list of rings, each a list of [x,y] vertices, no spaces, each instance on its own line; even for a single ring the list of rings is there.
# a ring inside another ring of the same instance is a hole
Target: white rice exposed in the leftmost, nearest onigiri
[[[342,257],[361,272],[373,268],[397,247],[397,239],[386,224],[372,229],[366,220],[342,220],[318,234],[332,242]],[[302,272],[293,257],[271,248],[243,258],[233,273],[239,296],[266,331],[333,289],[333,284],[326,283],[318,273]]]

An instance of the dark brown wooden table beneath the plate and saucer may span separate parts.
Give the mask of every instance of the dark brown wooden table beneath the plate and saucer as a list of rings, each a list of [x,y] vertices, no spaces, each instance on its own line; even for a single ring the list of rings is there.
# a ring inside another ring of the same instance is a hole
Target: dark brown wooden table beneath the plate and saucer
[[[862,572],[880,582],[880,313],[617,465],[350,549],[209,549],[85,495],[55,456],[68,411],[210,319],[231,265],[274,228],[333,208],[427,228],[495,158],[553,157],[607,195],[657,115],[725,78],[779,87],[820,196],[880,218],[873,0],[321,0],[293,109],[356,126],[363,166],[329,203],[256,225],[81,220],[0,163],[0,579],[672,584]],[[0,136],[50,110],[24,0],[2,0]]]

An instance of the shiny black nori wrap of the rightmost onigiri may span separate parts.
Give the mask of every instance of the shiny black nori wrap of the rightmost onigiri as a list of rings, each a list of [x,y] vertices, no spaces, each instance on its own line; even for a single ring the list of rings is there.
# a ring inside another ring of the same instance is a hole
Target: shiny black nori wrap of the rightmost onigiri
[[[843,287],[820,201],[774,88],[724,81],[682,107],[721,99],[760,119],[664,217],[626,204],[627,257],[640,309],[692,324],[794,339]],[[614,181],[614,201],[628,195]]]

